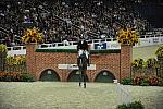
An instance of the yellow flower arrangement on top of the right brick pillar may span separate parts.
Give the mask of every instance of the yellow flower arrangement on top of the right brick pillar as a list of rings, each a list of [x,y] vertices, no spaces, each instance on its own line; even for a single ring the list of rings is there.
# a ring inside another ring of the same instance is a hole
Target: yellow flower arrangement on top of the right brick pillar
[[[121,29],[117,34],[117,41],[125,45],[134,46],[139,41],[139,33],[130,28]]]

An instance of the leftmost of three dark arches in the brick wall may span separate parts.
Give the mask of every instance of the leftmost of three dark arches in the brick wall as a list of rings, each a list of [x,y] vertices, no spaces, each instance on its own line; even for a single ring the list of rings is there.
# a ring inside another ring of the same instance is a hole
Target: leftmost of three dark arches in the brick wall
[[[60,81],[60,77],[54,70],[47,69],[41,72],[39,81]]]

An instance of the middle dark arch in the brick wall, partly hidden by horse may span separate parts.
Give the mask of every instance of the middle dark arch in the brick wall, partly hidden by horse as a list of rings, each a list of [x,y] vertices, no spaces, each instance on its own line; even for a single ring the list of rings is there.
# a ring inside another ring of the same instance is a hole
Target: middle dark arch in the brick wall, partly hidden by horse
[[[88,76],[86,76],[86,81],[88,82]],[[70,73],[67,77],[67,82],[79,82],[79,72],[78,70],[74,70]]]

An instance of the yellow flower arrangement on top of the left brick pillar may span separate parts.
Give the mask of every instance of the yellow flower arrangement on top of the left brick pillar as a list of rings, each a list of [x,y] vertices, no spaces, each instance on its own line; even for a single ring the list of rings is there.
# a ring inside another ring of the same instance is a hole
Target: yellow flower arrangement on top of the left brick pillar
[[[22,37],[22,41],[25,44],[29,43],[42,43],[43,34],[39,32],[39,28],[27,28]]]

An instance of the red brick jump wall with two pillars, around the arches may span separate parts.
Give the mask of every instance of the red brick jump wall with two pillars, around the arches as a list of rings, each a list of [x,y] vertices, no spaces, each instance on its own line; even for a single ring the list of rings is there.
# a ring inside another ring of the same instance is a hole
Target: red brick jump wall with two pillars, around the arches
[[[67,81],[71,70],[59,70],[58,64],[76,64],[77,53],[66,52],[35,52],[34,45],[27,45],[27,70],[39,80],[42,71],[54,70],[60,80]],[[121,53],[99,53],[90,57],[90,63],[96,70],[88,70],[87,75],[93,82],[100,71],[110,71],[118,81],[130,74],[131,47],[122,46]],[[121,76],[120,76],[121,75]]]

